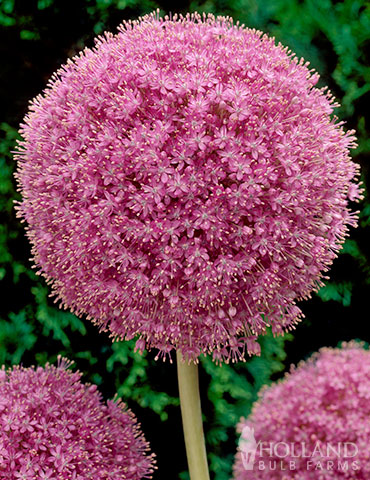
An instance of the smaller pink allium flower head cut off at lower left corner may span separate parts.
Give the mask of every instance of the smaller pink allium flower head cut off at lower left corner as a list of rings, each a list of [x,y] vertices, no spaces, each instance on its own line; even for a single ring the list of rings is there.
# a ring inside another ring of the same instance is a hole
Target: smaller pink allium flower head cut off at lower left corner
[[[58,367],[0,370],[0,479],[139,480],[153,455],[133,413]]]

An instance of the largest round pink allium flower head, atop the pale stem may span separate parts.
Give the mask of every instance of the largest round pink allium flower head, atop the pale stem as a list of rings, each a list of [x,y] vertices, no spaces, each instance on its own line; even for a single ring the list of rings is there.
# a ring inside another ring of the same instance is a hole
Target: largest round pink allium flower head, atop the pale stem
[[[22,125],[19,214],[55,296],[138,348],[237,359],[302,316],[355,215],[319,76],[229,18],[99,37]]]

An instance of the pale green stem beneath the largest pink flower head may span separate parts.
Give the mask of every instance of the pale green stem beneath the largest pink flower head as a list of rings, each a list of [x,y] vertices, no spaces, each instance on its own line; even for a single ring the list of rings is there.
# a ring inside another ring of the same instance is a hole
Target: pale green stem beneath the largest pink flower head
[[[209,480],[200,406],[198,365],[187,363],[177,352],[182,425],[191,480]]]

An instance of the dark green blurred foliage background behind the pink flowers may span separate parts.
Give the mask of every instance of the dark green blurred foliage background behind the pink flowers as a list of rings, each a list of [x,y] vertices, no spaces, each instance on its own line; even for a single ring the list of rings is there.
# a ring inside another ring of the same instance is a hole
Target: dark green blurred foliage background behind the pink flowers
[[[45,282],[31,269],[24,228],[13,209],[18,197],[11,151],[29,99],[69,56],[92,46],[96,34],[114,31],[123,18],[154,8],[162,13],[198,10],[231,15],[309,60],[322,75],[321,85],[328,85],[341,102],[337,115],[357,130],[354,158],[362,166],[366,186],[370,6],[358,0],[181,1],[176,8],[165,0],[0,0],[0,364],[44,364],[55,362],[58,354],[73,359],[85,380],[97,383],[106,398],[117,391],[134,410],[158,457],[155,478],[187,478],[175,366],[155,362],[152,353],[134,353],[132,342],[112,345],[89,322],[59,310],[48,298]],[[360,208],[359,228],[345,243],[331,280],[302,305],[307,318],[294,337],[266,336],[261,340],[262,356],[246,363],[218,367],[202,360],[201,394],[215,480],[230,478],[235,424],[248,414],[263,384],[322,346],[352,338],[369,342],[368,198]]]

